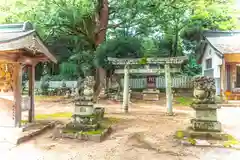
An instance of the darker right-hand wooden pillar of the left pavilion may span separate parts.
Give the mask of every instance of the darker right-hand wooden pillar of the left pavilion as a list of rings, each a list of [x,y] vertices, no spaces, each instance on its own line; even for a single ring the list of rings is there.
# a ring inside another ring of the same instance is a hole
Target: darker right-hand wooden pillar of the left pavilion
[[[35,116],[35,106],[34,106],[34,84],[35,84],[35,65],[28,67],[28,96],[30,97],[30,108],[28,112],[28,122],[31,123],[34,121]]]

